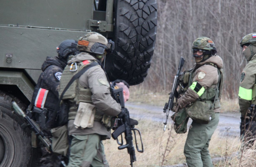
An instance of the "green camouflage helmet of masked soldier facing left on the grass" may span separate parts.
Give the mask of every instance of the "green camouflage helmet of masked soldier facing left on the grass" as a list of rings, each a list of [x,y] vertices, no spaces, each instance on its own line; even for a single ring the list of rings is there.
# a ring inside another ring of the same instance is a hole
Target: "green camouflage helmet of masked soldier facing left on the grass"
[[[203,55],[201,55],[201,56],[203,56],[203,59],[201,62],[206,61],[212,55],[215,55],[217,53],[214,41],[212,41],[210,38],[207,38],[207,37],[197,38],[192,43],[193,57],[201,57],[201,56],[195,54],[197,51],[203,52]]]

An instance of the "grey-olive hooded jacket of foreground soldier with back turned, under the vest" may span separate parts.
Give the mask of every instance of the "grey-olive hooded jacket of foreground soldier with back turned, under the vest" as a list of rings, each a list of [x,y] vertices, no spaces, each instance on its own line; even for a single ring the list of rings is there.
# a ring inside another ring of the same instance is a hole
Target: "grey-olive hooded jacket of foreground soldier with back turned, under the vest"
[[[81,52],[73,57],[68,64],[84,60],[96,60],[96,58],[86,52]],[[89,68],[79,77],[78,82],[84,88],[91,90],[92,103],[96,106],[96,115],[117,116],[121,112],[120,104],[111,97],[110,85],[105,72],[100,66]],[[94,121],[93,127],[85,129],[75,128],[73,122],[74,120],[68,122],[69,135],[99,134],[110,139],[110,131],[107,131],[106,127],[99,121]]]

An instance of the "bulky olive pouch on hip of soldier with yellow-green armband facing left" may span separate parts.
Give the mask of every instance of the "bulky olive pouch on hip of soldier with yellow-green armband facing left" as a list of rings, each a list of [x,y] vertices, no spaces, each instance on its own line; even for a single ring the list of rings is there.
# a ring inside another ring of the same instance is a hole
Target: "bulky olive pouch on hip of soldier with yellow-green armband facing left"
[[[205,101],[195,101],[186,107],[186,113],[199,124],[208,124],[212,119],[215,119],[214,107]]]

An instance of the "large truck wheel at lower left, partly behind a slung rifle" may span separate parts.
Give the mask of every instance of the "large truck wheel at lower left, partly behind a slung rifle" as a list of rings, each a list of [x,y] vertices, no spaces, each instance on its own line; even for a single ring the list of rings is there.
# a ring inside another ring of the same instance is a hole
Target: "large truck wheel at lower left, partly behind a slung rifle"
[[[0,91],[0,167],[34,167],[37,151],[31,148],[31,131],[22,129],[24,121],[12,113],[12,101],[25,110],[20,100]]]

